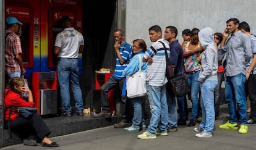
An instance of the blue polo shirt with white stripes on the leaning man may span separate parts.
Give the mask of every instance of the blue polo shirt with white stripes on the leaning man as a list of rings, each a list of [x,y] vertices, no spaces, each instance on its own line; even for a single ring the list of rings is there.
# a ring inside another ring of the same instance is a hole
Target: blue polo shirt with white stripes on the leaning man
[[[125,60],[125,62],[121,65],[118,57],[116,56],[116,68],[114,69],[113,77],[118,80],[121,80],[122,78],[124,78],[124,75],[122,75],[122,71],[126,68],[127,64],[129,63],[129,58],[132,54],[132,48],[130,47],[130,44],[124,42],[120,46],[119,52],[122,57],[122,60]]]

